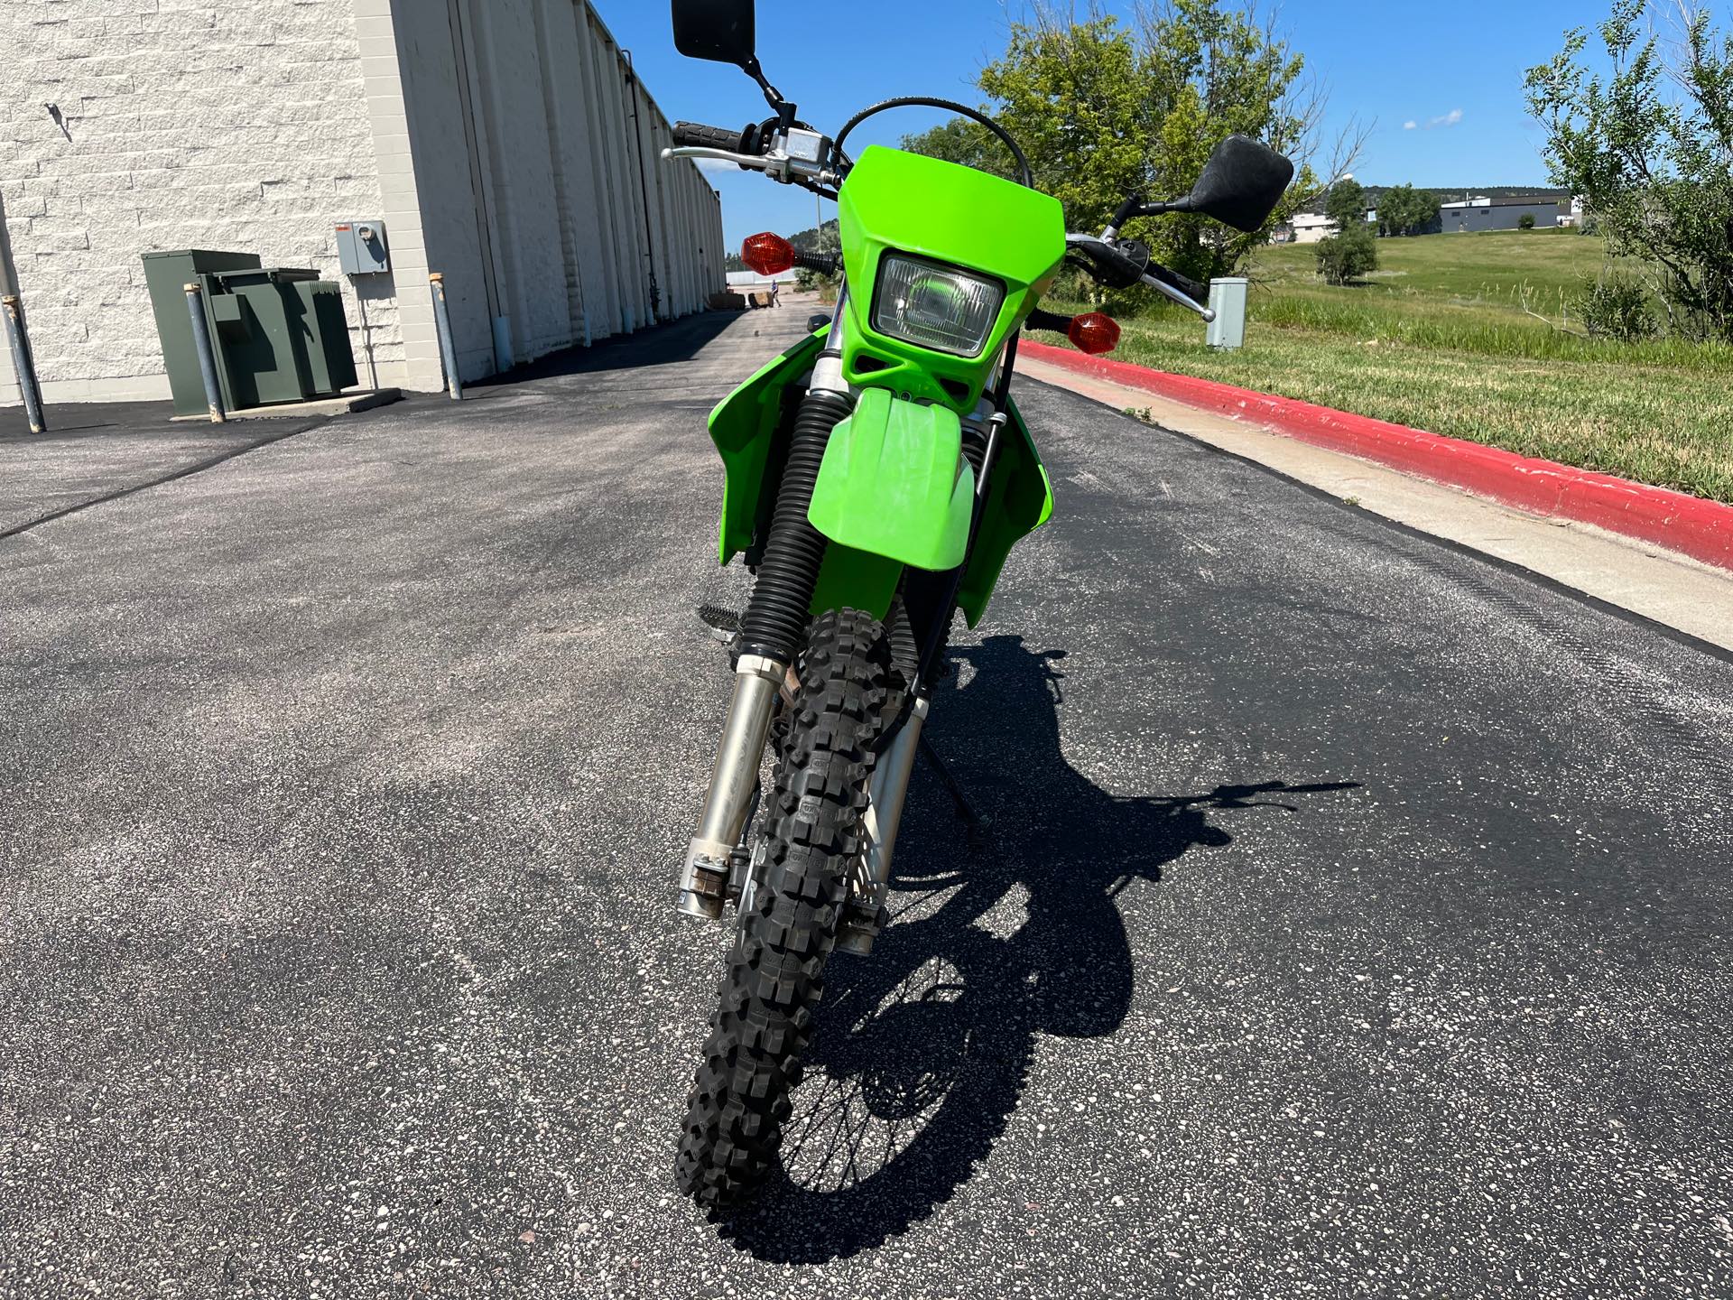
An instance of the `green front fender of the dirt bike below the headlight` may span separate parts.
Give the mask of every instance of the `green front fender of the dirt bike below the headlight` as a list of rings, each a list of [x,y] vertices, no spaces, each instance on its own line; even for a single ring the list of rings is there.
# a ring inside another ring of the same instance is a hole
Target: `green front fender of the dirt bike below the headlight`
[[[955,569],[969,549],[974,470],[943,406],[866,388],[837,425],[806,517],[834,543],[915,569]]]

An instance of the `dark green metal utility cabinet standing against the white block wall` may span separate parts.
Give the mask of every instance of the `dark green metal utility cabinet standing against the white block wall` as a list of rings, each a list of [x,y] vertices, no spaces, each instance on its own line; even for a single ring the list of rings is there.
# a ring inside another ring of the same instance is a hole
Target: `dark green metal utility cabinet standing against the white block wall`
[[[204,383],[187,315],[198,283],[224,406],[244,411],[334,397],[355,385],[341,289],[317,270],[263,267],[253,253],[146,253],[144,279],[177,414],[203,414]]]

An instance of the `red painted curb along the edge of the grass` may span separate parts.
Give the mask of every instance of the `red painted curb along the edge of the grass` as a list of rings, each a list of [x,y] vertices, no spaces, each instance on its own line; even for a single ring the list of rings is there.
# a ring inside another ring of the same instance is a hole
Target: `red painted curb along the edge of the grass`
[[[1733,506],[1634,484],[1610,473],[1445,439],[1383,419],[1331,411],[1189,374],[1166,374],[1125,361],[1022,340],[1019,354],[1080,374],[1170,397],[1241,419],[1272,425],[1300,442],[1348,452],[1393,470],[1461,487],[1534,515],[1556,515],[1638,537],[1721,569],[1733,569]]]

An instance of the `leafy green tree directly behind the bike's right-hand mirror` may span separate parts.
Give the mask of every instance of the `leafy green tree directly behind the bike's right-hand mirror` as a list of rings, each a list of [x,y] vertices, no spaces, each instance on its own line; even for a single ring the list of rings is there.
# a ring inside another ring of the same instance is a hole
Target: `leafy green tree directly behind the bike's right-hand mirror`
[[[988,64],[984,106],[1024,147],[1036,184],[1054,194],[1074,231],[1099,231],[1132,192],[1178,198],[1210,151],[1244,133],[1288,154],[1310,151],[1319,102],[1307,99],[1305,61],[1232,0],[1158,0],[1133,26],[1111,16],[1071,23],[1036,7],[1012,24],[1005,54]],[[953,120],[903,140],[905,149],[1010,173],[1005,147]],[[1303,158],[1301,158],[1303,161]],[[1196,279],[1223,276],[1267,243],[1317,189],[1300,168],[1289,196],[1256,234],[1203,217],[1133,220],[1126,234]]]

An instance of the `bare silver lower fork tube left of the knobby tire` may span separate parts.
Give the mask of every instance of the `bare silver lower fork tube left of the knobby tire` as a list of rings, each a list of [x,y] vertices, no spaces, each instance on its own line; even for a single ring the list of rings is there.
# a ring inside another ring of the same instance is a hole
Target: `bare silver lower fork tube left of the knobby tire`
[[[763,655],[740,655],[735,666],[735,695],[716,749],[716,771],[704,796],[698,834],[679,870],[676,908],[688,917],[716,920],[728,894],[728,858],[745,830],[757,787],[764,738],[776,709],[776,692],[789,678],[789,666]]]

